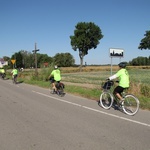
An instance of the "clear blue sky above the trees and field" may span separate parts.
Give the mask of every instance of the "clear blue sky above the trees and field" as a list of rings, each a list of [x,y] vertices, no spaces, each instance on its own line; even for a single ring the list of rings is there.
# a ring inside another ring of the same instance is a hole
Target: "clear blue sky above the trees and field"
[[[96,49],[84,57],[87,64],[108,64],[110,48],[124,49],[112,62],[149,57],[138,45],[150,30],[150,0],[0,0],[0,57],[20,50],[55,56],[69,52],[79,64],[78,51],[70,45],[78,22],[94,22],[104,35]]]

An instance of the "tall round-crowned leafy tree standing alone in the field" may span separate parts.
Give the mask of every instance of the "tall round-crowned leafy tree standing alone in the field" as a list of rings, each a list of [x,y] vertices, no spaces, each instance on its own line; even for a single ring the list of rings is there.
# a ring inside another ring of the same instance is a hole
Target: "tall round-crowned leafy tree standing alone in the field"
[[[103,38],[101,29],[92,22],[79,22],[75,26],[74,35],[70,36],[71,46],[74,51],[79,50],[80,71],[82,70],[84,56],[88,50],[97,48],[99,40]]]

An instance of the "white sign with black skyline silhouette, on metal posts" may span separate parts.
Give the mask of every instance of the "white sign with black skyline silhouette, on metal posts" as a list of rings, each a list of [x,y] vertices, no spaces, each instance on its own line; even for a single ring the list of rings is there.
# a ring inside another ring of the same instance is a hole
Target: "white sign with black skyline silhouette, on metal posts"
[[[121,57],[124,56],[124,50],[120,48],[110,48],[109,55],[111,57],[111,75],[112,75],[112,58],[116,57],[116,58],[120,58],[121,60]]]

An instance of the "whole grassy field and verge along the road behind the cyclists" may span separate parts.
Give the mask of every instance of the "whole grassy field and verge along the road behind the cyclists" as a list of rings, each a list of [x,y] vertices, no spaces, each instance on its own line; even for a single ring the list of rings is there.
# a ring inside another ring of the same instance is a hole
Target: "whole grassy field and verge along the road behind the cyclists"
[[[112,74],[118,69],[113,66]],[[140,107],[150,110],[150,67],[128,67],[130,74],[129,93],[136,95],[140,100]],[[48,88],[49,76],[52,68],[38,69],[38,78],[34,76],[34,70],[25,70],[19,73],[18,80]],[[60,68],[62,82],[65,83],[65,92],[87,97],[91,100],[99,100],[102,82],[111,75],[110,66],[87,66],[79,72],[77,67]]]

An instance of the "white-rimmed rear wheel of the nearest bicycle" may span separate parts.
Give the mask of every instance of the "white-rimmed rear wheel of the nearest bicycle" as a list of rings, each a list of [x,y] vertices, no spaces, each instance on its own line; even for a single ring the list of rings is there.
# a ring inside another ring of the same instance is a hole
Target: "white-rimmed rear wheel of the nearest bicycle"
[[[139,110],[139,100],[132,94],[125,95],[124,99],[122,103],[123,111],[130,116],[135,115]]]

